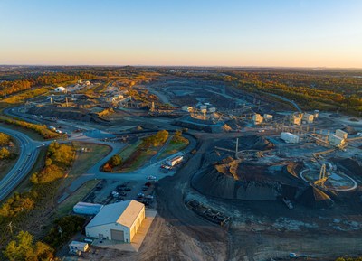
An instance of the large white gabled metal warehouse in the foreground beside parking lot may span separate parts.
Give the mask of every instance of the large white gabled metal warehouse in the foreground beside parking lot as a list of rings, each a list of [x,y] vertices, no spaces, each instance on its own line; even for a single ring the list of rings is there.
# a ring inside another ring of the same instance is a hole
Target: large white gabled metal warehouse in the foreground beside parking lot
[[[104,206],[85,228],[87,237],[132,242],[143,219],[145,205],[127,200]]]

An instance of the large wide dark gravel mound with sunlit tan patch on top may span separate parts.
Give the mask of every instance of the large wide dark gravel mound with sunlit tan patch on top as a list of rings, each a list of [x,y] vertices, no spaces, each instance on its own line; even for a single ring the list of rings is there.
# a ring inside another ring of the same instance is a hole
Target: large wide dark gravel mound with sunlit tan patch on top
[[[228,161],[210,166],[195,174],[193,187],[208,196],[233,200],[276,200],[294,196],[304,190],[305,184],[281,165],[253,165]]]

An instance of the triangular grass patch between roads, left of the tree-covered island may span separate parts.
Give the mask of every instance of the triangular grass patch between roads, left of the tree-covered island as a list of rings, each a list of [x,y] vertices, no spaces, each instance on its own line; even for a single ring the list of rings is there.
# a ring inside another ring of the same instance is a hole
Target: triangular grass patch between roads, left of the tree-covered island
[[[75,147],[77,154],[75,155],[71,171],[68,173],[67,177],[64,178],[64,181],[59,188],[60,191],[67,188],[74,179],[88,171],[91,166],[98,163],[111,151],[109,146],[102,144],[73,142],[73,146]],[[81,148],[87,148],[88,152],[81,152]]]

